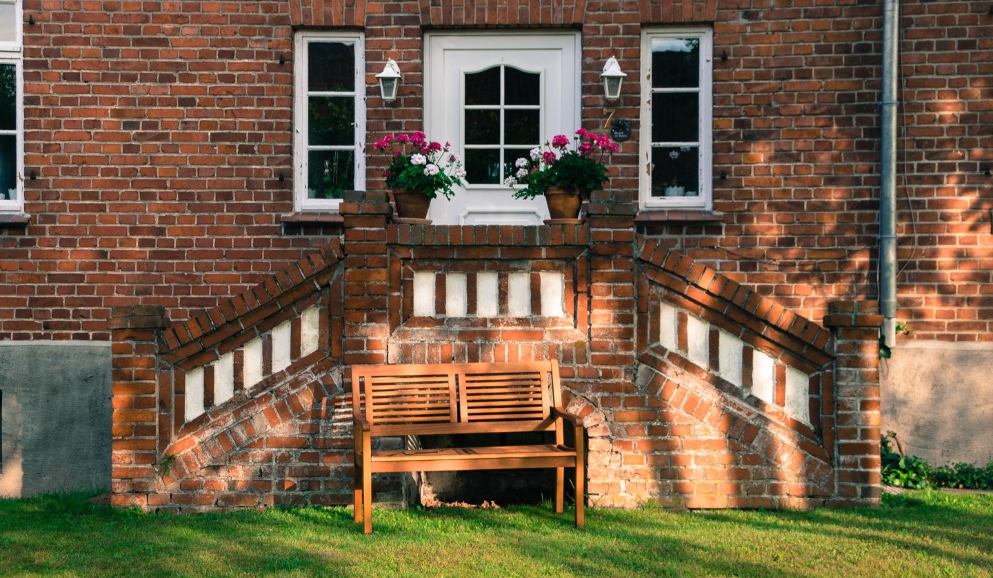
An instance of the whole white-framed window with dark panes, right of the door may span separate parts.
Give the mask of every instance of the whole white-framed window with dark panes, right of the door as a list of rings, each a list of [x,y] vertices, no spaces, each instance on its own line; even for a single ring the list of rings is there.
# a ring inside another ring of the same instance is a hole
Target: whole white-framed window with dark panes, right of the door
[[[641,55],[640,206],[710,209],[713,34],[646,31]]]

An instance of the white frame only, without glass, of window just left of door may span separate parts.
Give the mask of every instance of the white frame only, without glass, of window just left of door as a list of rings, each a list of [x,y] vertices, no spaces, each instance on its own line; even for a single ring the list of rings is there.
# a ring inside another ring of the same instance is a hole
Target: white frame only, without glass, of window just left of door
[[[307,161],[307,70],[308,46],[312,42],[355,44],[355,190],[365,189],[365,43],[357,32],[304,31],[297,33],[294,59],[294,206],[297,211],[337,212],[341,199],[308,199]],[[325,96],[348,96],[351,92],[320,92]],[[347,150],[347,149],[343,149]]]

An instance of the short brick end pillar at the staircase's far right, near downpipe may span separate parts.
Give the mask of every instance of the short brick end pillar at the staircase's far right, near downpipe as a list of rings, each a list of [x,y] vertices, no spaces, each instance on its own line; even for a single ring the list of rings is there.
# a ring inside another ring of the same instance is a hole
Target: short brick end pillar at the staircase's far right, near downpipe
[[[836,301],[824,326],[834,334],[837,492],[834,506],[878,506],[879,329],[876,301]]]

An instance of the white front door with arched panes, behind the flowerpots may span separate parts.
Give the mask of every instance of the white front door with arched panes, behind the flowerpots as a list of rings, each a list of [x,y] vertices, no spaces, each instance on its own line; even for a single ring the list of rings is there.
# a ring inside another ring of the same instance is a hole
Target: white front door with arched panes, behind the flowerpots
[[[468,186],[439,197],[437,224],[540,224],[544,199],[513,198],[502,185],[513,162],[556,134],[579,128],[578,33],[429,34],[424,124],[466,163]]]

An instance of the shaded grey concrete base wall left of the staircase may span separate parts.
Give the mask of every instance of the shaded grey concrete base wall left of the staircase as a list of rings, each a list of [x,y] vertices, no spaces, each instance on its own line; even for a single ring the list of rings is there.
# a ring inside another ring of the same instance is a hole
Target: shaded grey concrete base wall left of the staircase
[[[0,498],[110,488],[110,345],[0,343]]]

